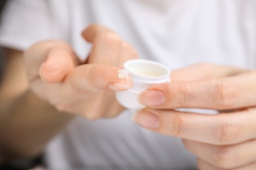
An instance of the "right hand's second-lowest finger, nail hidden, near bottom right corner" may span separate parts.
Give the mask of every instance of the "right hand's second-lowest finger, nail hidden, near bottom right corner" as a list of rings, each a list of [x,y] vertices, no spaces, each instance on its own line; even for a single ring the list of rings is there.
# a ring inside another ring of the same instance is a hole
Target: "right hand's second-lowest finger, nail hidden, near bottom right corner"
[[[256,160],[256,140],[228,146],[216,146],[196,141],[183,141],[196,157],[223,169],[242,167]]]

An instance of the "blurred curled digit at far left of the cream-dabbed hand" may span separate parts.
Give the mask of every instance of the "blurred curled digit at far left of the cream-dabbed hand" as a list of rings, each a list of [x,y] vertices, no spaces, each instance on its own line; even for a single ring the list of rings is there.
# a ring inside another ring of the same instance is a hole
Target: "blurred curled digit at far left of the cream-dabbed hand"
[[[28,80],[41,77],[46,82],[60,82],[79,60],[72,47],[62,41],[43,41],[24,52]]]

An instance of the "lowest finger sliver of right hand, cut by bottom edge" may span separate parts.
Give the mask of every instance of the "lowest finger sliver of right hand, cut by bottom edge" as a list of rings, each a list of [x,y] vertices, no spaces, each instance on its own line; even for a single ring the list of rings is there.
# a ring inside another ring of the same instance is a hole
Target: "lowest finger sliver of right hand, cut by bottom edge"
[[[198,168],[200,170],[223,170],[222,168],[215,167],[210,163],[207,163],[206,161],[203,161],[200,159],[198,160]],[[253,169],[256,169],[256,163],[251,163],[243,167],[237,167],[237,168],[225,169],[225,170],[253,170]]]

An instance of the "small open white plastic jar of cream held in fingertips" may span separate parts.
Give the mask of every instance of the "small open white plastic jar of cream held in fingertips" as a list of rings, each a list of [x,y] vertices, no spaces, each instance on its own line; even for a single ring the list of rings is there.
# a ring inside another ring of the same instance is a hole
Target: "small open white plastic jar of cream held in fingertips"
[[[133,88],[124,92],[116,92],[117,101],[130,110],[144,108],[139,102],[139,95],[153,84],[171,82],[171,70],[156,61],[148,59],[131,59],[123,65],[133,79]]]

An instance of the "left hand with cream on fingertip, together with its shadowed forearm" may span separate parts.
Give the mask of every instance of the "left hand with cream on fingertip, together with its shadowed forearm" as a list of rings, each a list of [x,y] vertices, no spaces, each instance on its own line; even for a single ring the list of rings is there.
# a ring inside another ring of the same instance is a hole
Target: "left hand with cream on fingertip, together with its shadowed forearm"
[[[0,103],[0,149],[5,160],[41,153],[75,115],[96,120],[123,110],[114,92],[128,90],[133,82],[130,76],[118,78],[117,71],[126,60],[137,58],[136,50],[100,25],[89,25],[82,36],[93,44],[87,61],[79,61],[62,41],[38,42],[25,52],[6,49],[0,89],[5,101]]]

